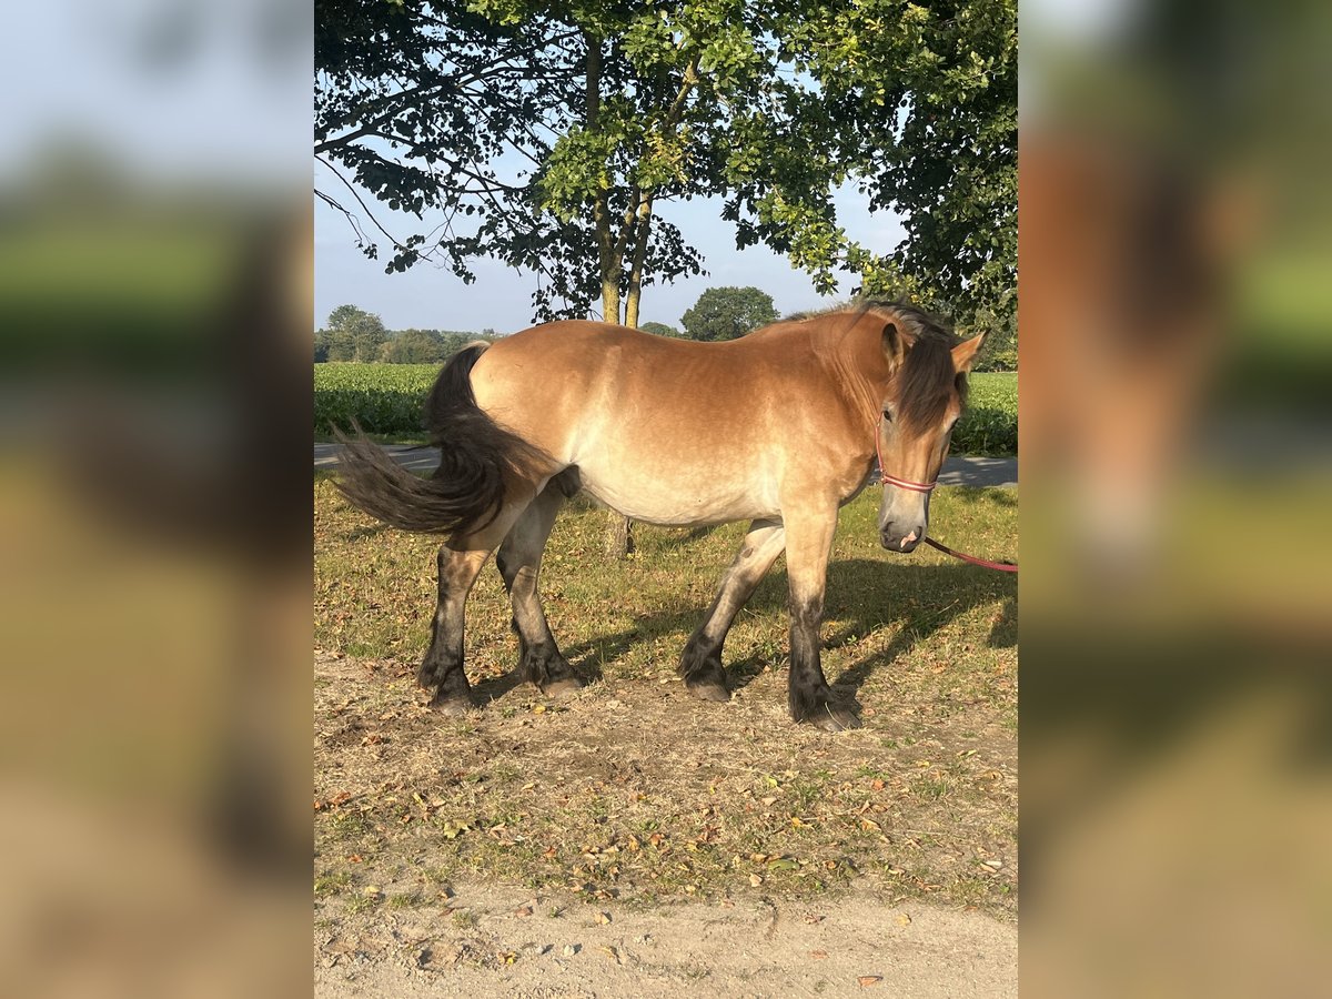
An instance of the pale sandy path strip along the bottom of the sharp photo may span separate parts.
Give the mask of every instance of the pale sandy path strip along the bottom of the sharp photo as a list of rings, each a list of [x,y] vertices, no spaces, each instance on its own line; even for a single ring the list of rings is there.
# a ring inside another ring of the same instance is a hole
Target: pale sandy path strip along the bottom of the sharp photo
[[[314,936],[320,996],[838,996],[1018,994],[1018,928],[871,891],[802,904],[638,911],[472,883],[450,906],[346,916]],[[466,919],[450,915],[466,912]]]

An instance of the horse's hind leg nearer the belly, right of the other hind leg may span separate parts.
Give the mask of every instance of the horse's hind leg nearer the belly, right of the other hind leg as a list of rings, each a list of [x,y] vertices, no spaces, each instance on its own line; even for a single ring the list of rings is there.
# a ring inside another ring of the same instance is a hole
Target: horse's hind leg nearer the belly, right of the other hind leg
[[[513,601],[513,630],[518,634],[521,655],[518,670],[547,697],[571,694],[583,685],[550,634],[537,591],[541,555],[567,486],[563,478],[551,480],[513,525],[496,555],[496,566]]]

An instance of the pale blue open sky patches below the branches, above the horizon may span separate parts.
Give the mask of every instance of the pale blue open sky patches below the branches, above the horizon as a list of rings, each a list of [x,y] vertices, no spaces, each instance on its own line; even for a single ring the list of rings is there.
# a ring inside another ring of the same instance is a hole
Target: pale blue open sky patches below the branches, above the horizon
[[[322,166],[316,165],[316,184],[328,182],[328,189],[341,204],[352,201],[341,197],[341,184]],[[342,188],[342,194],[346,189]],[[362,194],[364,196],[364,194]],[[412,216],[380,212],[378,202],[368,204],[385,226],[398,233],[426,232],[425,225]],[[903,237],[900,220],[887,212],[871,213],[868,198],[851,188],[836,194],[838,218],[847,234],[879,252],[892,249]],[[663,216],[675,222],[703,256],[706,274],[679,280],[673,285],[650,285],[643,289],[642,322],[665,322],[679,328],[679,317],[709,288],[723,285],[761,288],[773,296],[778,313],[786,314],[831,302],[819,298],[805,273],[795,270],[785,257],[763,246],[735,249],[735,229],[721,217],[719,198],[695,198],[689,202],[669,204]],[[369,221],[357,209],[362,228]],[[388,218],[394,218],[389,224]],[[381,245],[381,256],[386,257]],[[357,249],[346,218],[322,201],[314,201],[314,321],[322,325],[338,305],[356,305],[373,312],[389,329],[450,329],[480,333],[493,329],[514,333],[531,325],[531,292],[535,278],[526,272],[507,268],[497,261],[478,260],[473,265],[474,284],[465,285],[446,268],[424,261],[405,273],[385,274],[384,262],[368,260]],[[842,281],[839,292],[848,294],[856,285],[850,276]]]

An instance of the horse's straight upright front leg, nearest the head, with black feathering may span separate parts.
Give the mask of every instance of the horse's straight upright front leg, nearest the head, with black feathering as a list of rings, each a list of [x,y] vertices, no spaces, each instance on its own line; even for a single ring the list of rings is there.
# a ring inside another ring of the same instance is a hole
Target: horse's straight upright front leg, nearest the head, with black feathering
[[[855,710],[832,702],[819,661],[823,589],[836,529],[836,506],[829,511],[787,517],[786,571],[791,599],[791,718],[826,731],[859,729]]]

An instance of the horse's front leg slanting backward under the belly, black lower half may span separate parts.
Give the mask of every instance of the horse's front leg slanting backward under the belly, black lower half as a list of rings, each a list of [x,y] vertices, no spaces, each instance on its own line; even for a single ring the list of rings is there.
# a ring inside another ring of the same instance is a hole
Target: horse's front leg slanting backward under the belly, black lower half
[[[739,554],[722,578],[717,599],[703,623],[690,635],[679,658],[679,674],[689,691],[705,701],[729,701],[726,673],[722,670],[722,645],[731,630],[735,614],[745,606],[759,579],[782,553],[786,531],[775,521],[754,521]]]

